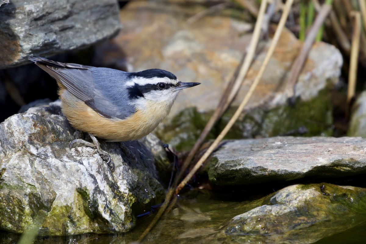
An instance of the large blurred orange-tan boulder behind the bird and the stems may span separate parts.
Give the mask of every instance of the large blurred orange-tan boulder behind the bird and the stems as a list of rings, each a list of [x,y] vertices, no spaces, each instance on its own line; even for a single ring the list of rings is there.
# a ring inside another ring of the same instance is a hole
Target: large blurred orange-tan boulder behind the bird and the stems
[[[225,84],[234,74],[251,39],[251,33],[247,33],[251,25],[240,10],[224,9],[191,21],[190,17],[205,9],[200,3],[187,6],[172,1],[130,2],[121,10],[123,30],[103,45],[123,50],[125,56],[120,60],[120,66],[130,67],[130,71],[162,68],[173,72],[180,80],[202,83],[197,89],[179,95],[168,120],[155,131],[165,143],[180,149],[189,149],[197,138],[196,131],[203,127],[199,125],[195,131],[180,130],[181,124],[194,124],[197,116],[180,117],[179,112],[187,107],[197,107],[198,113],[206,113],[199,117],[204,126],[206,117],[218,104]],[[260,43],[260,52],[255,56],[234,106],[240,104],[257,76],[269,41]],[[148,48],[142,48],[147,44]],[[110,57],[117,65],[114,52],[103,46],[98,50],[104,55],[99,53],[99,56]],[[234,133],[238,137],[332,133],[330,90],[338,82],[342,56],[332,45],[315,43],[298,79],[296,97],[299,99],[294,106],[288,106],[285,81],[301,47],[302,42],[290,31],[283,31],[264,77],[246,106],[245,115],[237,123],[238,130]],[[231,115],[228,113],[226,116]],[[174,121],[179,121],[179,124],[174,124]],[[221,125],[217,131],[219,128]],[[305,129],[299,131],[299,128]]]

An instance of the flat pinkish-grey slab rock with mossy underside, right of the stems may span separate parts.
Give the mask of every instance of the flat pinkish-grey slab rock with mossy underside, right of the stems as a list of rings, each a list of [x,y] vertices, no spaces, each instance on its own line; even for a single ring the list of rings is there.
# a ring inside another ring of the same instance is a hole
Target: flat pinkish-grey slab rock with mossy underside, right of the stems
[[[210,181],[217,185],[362,173],[366,173],[366,139],[361,137],[235,140],[213,154],[208,170]]]

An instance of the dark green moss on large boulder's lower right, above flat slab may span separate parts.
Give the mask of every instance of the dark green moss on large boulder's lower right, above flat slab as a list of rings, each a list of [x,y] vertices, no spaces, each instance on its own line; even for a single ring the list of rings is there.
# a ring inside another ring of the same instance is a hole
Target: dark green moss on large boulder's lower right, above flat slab
[[[294,105],[278,106],[269,111],[258,108],[244,116],[243,128],[249,137],[271,137],[278,135],[292,136],[330,136],[332,135],[332,103],[328,89],[310,101],[296,100]],[[259,120],[256,118],[260,118]],[[299,128],[306,128],[302,133]]]

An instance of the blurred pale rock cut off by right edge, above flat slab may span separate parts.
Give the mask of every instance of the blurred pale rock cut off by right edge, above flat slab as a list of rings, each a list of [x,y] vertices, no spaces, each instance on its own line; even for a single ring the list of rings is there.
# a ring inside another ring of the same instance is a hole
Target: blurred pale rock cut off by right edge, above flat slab
[[[366,137],[366,91],[363,91],[356,99],[352,107],[348,136]]]

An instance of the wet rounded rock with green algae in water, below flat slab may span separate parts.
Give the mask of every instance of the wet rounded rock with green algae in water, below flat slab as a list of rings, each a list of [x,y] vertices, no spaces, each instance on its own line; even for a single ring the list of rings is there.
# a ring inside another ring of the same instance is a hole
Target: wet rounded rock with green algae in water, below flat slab
[[[248,205],[255,204],[258,206],[232,218],[209,240],[314,243],[365,222],[366,191],[326,183],[291,185]]]

